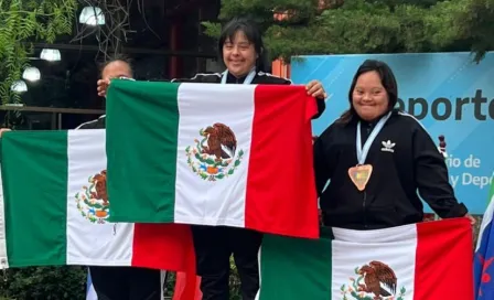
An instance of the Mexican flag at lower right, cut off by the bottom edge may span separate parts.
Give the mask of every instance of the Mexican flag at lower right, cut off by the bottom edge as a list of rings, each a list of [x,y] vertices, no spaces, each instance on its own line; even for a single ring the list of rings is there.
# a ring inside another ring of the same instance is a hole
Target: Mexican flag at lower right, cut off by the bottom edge
[[[444,219],[320,239],[265,235],[258,300],[473,300],[472,228]]]

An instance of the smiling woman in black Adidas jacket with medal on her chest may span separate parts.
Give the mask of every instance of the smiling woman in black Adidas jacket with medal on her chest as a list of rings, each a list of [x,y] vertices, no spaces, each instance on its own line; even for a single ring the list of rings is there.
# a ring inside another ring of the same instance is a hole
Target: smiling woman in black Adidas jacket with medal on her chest
[[[421,222],[418,194],[441,218],[474,222],[454,197],[443,156],[417,119],[394,109],[397,99],[388,65],[365,61],[348,92],[350,109],[315,140],[325,226],[378,229]]]

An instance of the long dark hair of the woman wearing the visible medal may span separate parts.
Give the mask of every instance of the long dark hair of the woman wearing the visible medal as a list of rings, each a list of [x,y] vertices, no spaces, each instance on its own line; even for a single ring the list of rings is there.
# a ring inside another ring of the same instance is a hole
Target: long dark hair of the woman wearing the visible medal
[[[376,60],[366,60],[357,69],[355,73],[355,76],[353,77],[352,85],[350,86],[348,90],[348,101],[350,101],[350,109],[343,113],[343,115],[337,119],[337,122],[341,124],[348,124],[355,116],[356,111],[353,107],[352,96],[353,90],[355,89],[355,85],[357,84],[358,77],[361,77],[362,74],[367,72],[377,72],[380,77],[380,84],[384,86],[388,94],[388,109],[387,111],[393,110],[396,103],[398,101],[398,84],[396,83],[395,74],[393,74],[391,68],[384,62],[376,61]]]

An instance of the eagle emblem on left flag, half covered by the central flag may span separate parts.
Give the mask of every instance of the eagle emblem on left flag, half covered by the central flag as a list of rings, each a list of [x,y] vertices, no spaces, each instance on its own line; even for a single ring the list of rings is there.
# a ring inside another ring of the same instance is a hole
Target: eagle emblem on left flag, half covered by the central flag
[[[105,224],[109,217],[109,201],[106,190],[106,170],[89,176],[88,186],[84,185],[75,194],[77,210],[92,223]]]

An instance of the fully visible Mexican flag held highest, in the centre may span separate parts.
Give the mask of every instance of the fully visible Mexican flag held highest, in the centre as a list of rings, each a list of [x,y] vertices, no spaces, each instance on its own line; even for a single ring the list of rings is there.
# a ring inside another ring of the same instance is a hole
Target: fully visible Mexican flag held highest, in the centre
[[[319,237],[303,86],[117,79],[107,103],[111,221]]]

